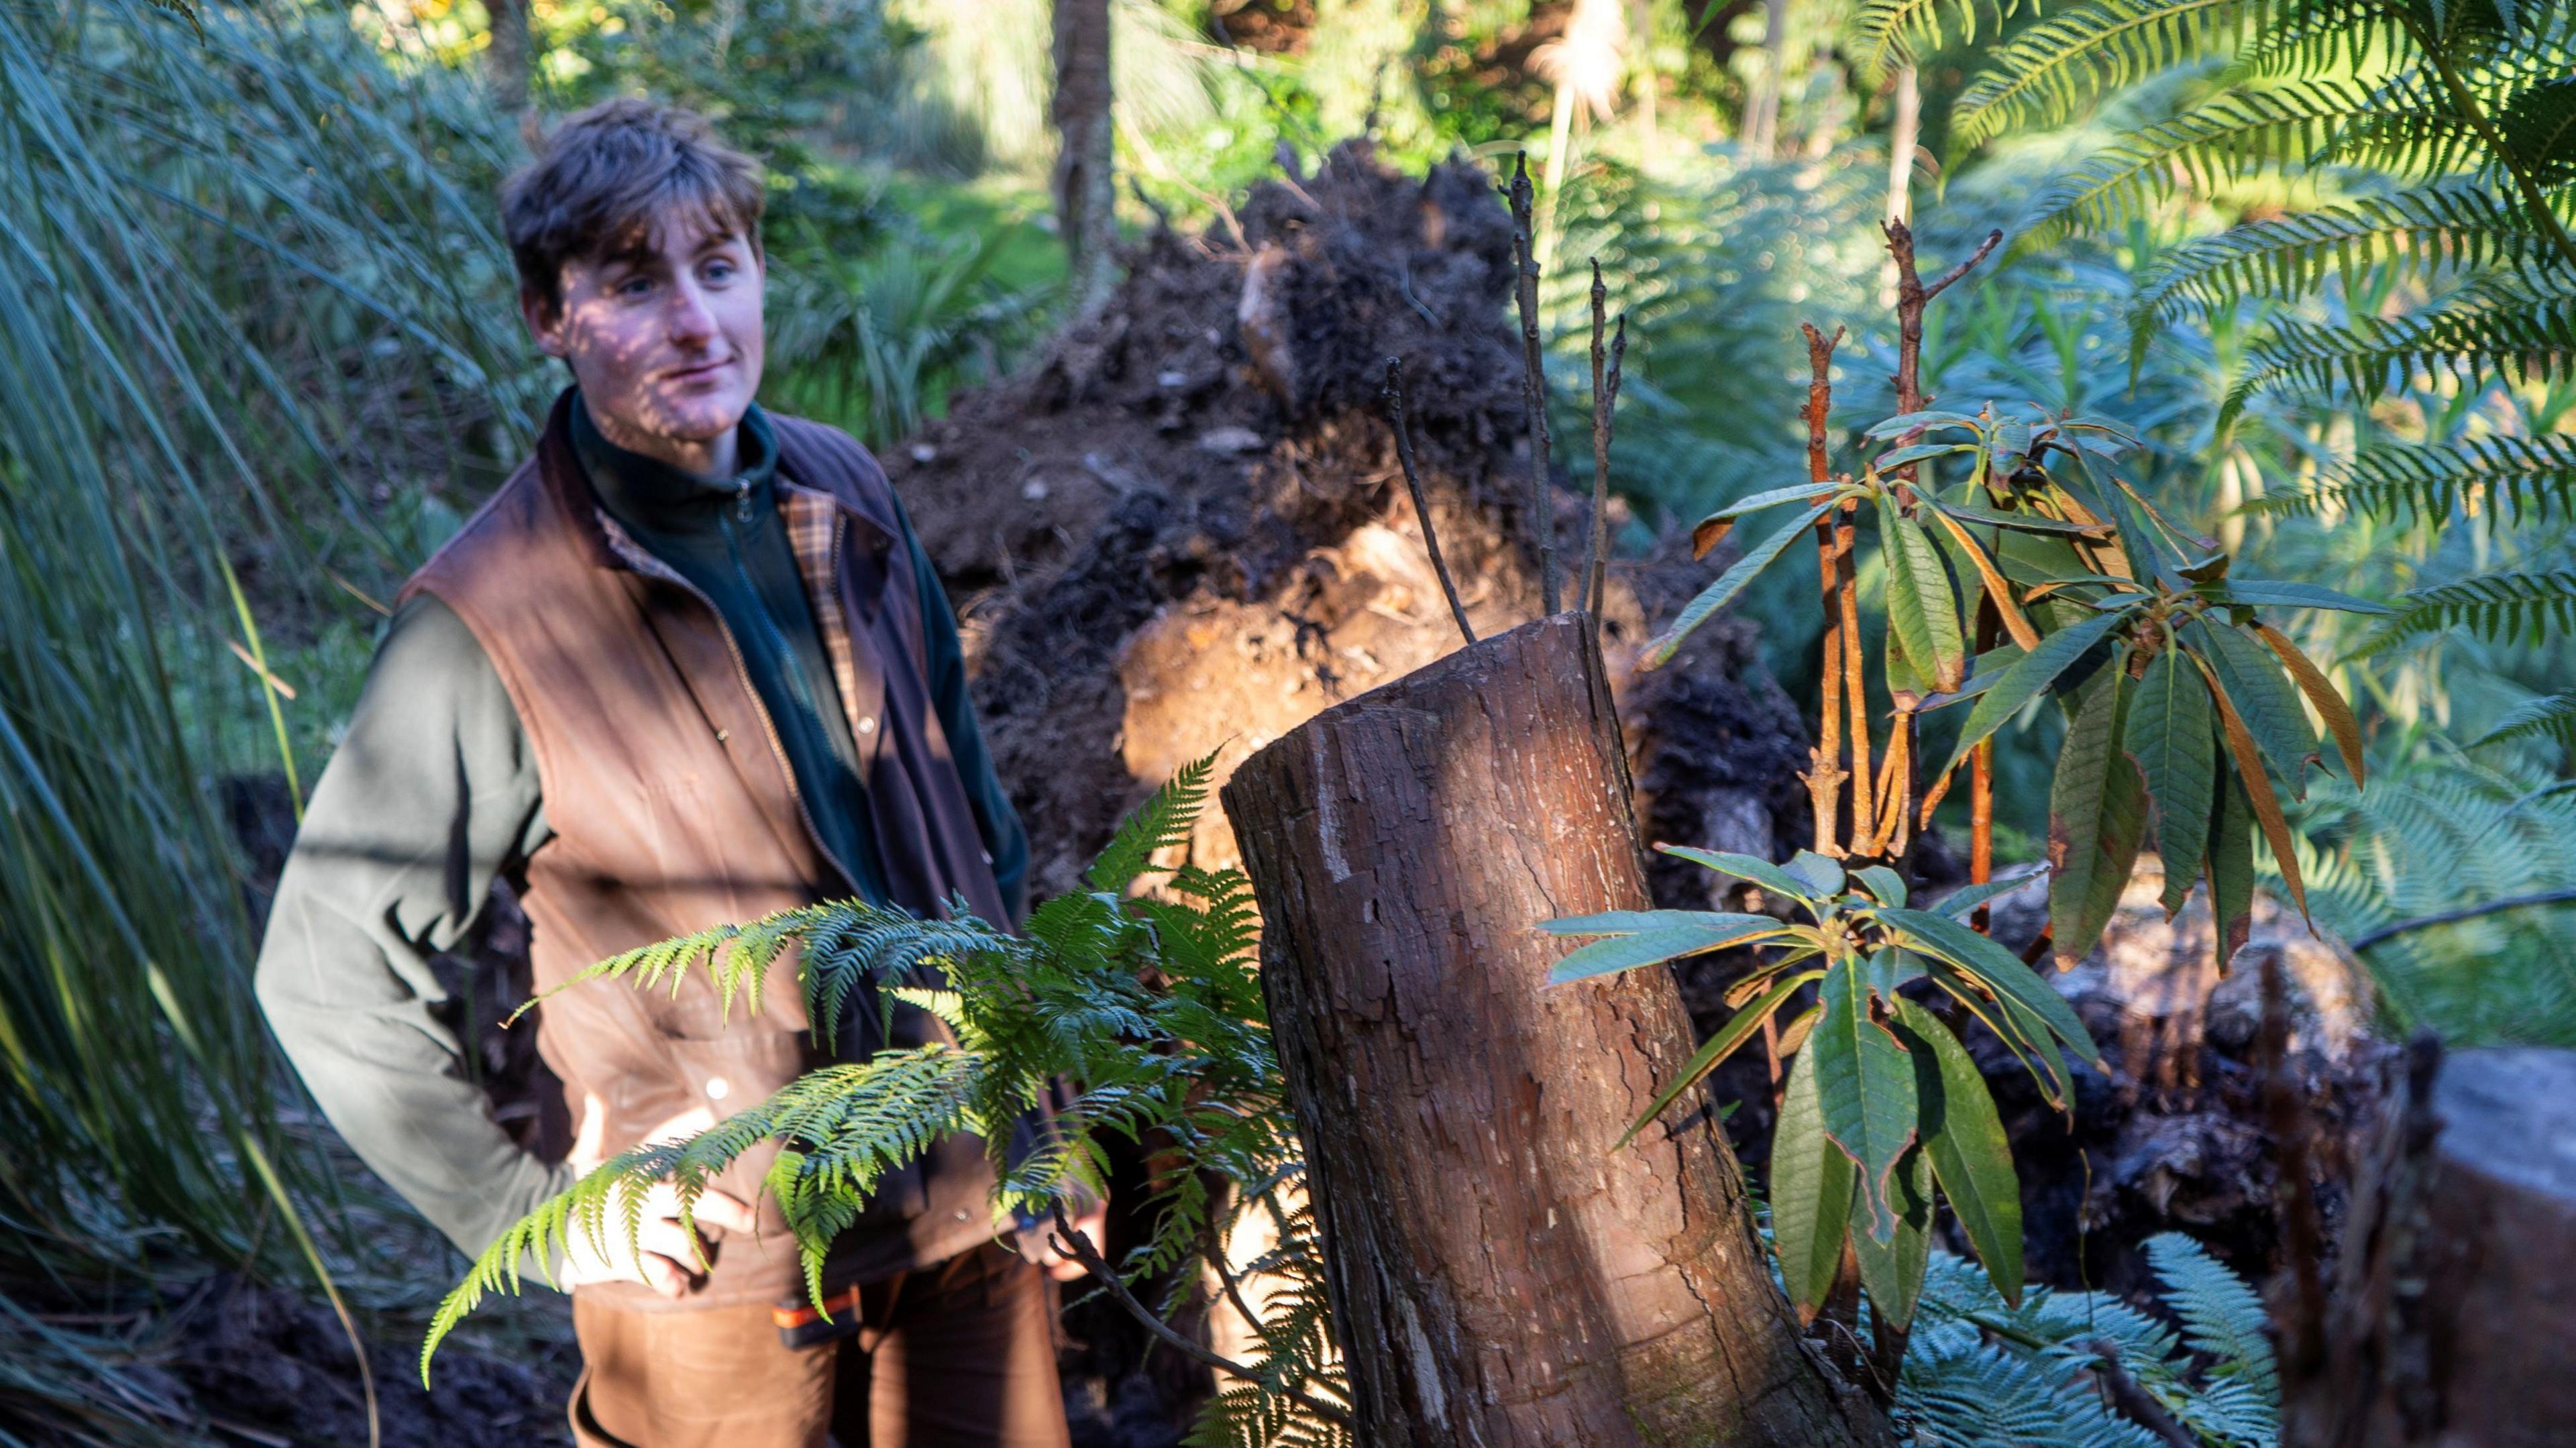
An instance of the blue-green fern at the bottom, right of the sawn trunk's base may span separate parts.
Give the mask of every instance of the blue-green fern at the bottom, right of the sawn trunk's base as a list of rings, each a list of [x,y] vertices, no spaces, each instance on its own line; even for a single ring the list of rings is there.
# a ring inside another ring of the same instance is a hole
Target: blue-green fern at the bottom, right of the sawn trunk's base
[[[2159,1448],[2087,1381],[2120,1368],[2210,1448],[2272,1448],[2280,1384],[2254,1288],[2190,1237],[2146,1242],[2161,1319],[2110,1293],[2030,1288],[2020,1304],[1976,1268],[1935,1252],[1896,1378],[1896,1422],[1942,1448]]]

